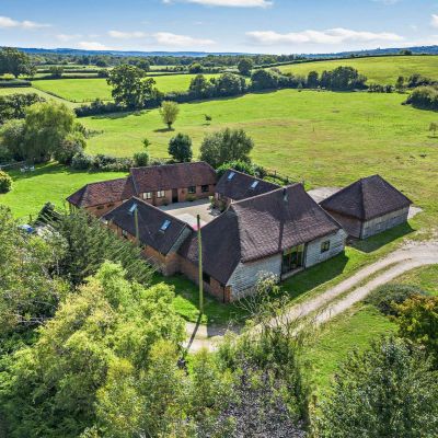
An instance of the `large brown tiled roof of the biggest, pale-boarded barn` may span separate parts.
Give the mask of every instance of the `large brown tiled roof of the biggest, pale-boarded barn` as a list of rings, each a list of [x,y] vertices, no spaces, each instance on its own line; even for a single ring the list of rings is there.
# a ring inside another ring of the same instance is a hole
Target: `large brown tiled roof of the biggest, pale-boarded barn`
[[[226,285],[239,262],[278,254],[339,229],[301,184],[279,188],[232,204],[201,229],[204,270]],[[197,263],[196,233],[181,254]]]

